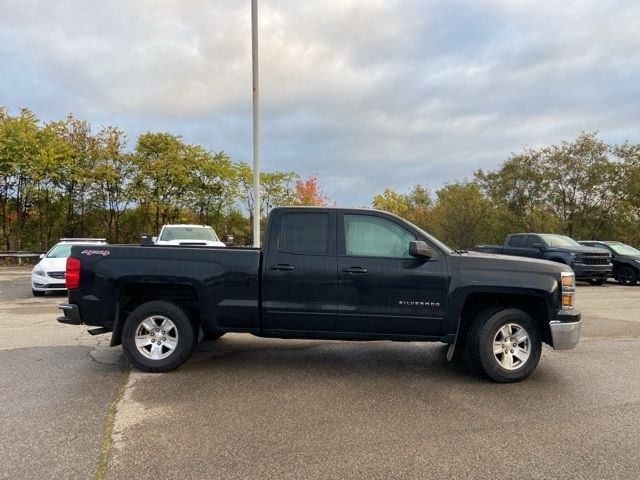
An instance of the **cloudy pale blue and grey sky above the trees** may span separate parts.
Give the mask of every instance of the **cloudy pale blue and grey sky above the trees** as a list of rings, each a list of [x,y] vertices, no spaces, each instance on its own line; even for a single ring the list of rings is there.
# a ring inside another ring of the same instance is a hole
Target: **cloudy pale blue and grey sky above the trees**
[[[598,131],[640,143],[640,2],[259,0],[264,170],[340,206]],[[0,105],[252,162],[250,0],[2,0]]]

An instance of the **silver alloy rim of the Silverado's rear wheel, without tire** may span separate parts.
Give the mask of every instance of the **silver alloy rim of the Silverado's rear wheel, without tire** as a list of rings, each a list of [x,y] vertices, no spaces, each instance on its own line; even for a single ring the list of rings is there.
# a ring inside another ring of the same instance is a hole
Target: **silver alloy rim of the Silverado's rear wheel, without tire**
[[[162,360],[178,346],[178,329],[167,317],[153,315],[138,324],[135,340],[138,351],[146,358]]]

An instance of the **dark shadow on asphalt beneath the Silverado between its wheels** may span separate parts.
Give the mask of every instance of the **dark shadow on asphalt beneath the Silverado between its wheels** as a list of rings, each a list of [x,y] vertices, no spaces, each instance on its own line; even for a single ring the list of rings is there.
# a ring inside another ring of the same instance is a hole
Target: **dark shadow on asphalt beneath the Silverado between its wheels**
[[[264,339],[227,335],[203,342],[181,370],[250,375],[358,376],[397,379],[429,376],[484,382],[459,355],[446,359],[447,345],[427,342]]]

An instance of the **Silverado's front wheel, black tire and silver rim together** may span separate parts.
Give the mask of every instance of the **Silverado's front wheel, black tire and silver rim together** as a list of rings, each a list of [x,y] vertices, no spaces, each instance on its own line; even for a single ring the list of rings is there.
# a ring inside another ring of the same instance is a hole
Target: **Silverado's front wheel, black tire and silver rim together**
[[[467,348],[477,370],[498,383],[510,383],[533,373],[542,353],[542,341],[528,313],[503,308],[476,317]]]

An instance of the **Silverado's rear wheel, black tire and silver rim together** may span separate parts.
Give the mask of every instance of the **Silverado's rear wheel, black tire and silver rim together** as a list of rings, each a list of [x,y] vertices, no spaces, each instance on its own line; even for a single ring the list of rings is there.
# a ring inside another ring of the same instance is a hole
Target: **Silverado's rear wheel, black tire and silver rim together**
[[[196,329],[175,303],[143,303],[127,317],[122,348],[129,361],[145,372],[168,372],[182,365],[197,343]]]

